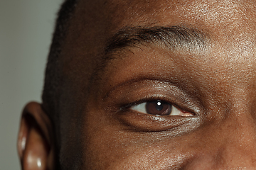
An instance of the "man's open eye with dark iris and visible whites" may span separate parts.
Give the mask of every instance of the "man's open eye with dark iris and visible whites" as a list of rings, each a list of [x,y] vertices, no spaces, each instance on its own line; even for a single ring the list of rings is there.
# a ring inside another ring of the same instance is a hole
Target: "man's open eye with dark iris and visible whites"
[[[151,115],[180,115],[192,116],[193,113],[181,111],[175,106],[165,101],[147,101],[131,107],[132,111],[146,113]]]

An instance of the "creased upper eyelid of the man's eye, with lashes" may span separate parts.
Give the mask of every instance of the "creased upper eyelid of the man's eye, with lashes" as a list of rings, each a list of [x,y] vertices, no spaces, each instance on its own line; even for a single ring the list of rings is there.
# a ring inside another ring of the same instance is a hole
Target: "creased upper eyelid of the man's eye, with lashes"
[[[132,92],[131,92],[132,91]],[[161,100],[180,108],[182,111],[198,114],[204,113],[201,103],[189,96],[175,84],[159,79],[132,79],[113,87],[104,101],[114,99],[117,108],[123,110],[144,101]],[[114,104],[112,101],[112,104]]]

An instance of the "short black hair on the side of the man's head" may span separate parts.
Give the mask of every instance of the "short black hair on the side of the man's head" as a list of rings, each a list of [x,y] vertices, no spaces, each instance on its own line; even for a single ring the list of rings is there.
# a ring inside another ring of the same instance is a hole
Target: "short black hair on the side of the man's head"
[[[58,146],[58,111],[61,94],[61,82],[63,81],[59,67],[60,53],[62,51],[63,42],[65,41],[65,36],[68,32],[70,19],[73,16],[75,6],[78,4],[78,1],[79,0],[65,0],[60,7],[60,11],[58,11],[53,39],[50,45],[50,52],[48,53],[48,62],[43,86],[42,108],[53,123],[53,134],[55,137],[55,144],[57,146],[55,148],[57,169],[60,169],[60,164],[58,161],[58,153],[60,149],[60,146]]]

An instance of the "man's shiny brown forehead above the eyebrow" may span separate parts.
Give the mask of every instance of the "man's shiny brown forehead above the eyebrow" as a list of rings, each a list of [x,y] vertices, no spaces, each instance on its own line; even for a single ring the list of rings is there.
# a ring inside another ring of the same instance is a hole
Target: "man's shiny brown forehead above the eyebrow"
[[[254,1],[80,1],[67,41],[92,51],[122,28],[185,25],[208,31],[216,41],[252,42],[254,8]]]

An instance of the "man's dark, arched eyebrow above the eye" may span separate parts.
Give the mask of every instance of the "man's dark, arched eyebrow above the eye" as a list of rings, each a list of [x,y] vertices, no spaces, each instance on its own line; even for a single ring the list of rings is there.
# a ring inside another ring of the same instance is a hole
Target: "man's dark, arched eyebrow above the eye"
[[[129,50],[139,45],[160,45],[170,50],[205,50],[209,36],[202,30],[188,26],[128,27],[119,30],[105,47],[105,56],[118,50]]]

